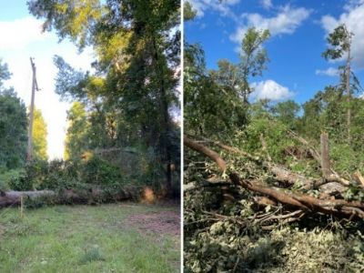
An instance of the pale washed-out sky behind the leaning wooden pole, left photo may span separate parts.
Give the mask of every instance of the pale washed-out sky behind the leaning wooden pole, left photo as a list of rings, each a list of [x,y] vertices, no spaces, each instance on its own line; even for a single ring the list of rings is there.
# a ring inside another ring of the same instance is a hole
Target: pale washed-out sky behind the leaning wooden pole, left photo
[[[48,156],[60,158],[64,154],[66,110],[70,105],[60,102],[55,93],[53,56],[63,56],[71,66],[90,70],[93,52],[86,48],[78,55],[72,43],[66,40],[58,43],[54,33],[42,34],[41,24],[42,21],[28,13],[25,0],[0,0],[0,58],[13,74],[6,85],[14,86],[15,92],[28,106],[32,83],[29,57],[35,58],[37,82],[41,89],[35,94],[35,107],[42,111],[47,124]]]

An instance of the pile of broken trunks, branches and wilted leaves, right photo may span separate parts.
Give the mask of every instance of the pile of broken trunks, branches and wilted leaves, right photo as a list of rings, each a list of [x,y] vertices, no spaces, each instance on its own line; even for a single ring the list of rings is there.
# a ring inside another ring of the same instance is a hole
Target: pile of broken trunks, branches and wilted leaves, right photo
[[[330,167],[326,134],[320,152],[290,134],[301,146],[285,152],[315,161],[319,176],[274,163],[263,137],[259,155],[184,137],[189,270],[364,270],[363,177]]]

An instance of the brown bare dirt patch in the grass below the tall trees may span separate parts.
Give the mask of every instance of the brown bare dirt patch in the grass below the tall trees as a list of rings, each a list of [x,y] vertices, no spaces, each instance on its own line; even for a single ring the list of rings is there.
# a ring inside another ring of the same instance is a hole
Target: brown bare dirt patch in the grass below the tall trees
[[[135,214],[127,219],[133,227],[144,232],[157,234],[180,235],[179,211],[151,211],[143,214]]]

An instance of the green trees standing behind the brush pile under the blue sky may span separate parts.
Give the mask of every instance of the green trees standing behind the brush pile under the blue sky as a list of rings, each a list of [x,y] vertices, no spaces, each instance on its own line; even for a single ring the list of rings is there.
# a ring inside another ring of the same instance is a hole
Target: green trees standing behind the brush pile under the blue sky
[[[329,47],[322,56],[326,59],[346,56],[351,35],[345,25],[339,25],[329,35]],[[327,132],[334,165],[340,171],[364,171],[360,163],[364,159],[363,89],[348,63],[352,59],[338,67],[336,85],[325,86],[301,105],[293,100],[254,101],[250,96],[254,87],[250,83],[268,66],[268,53],[264,49],[268,37],[268,31],[248,29],[242,40],[240,62],[233,64],[221,59],[217,69],[212,70],[206,67],[201,46],[186,43],[184,117],[187,135],[228,140],[249,152],[262,148],[261,136],[264,136],[274,159],[282,162],[288,156],[285,149],[297,145],[289,132],[304,137],[314,147],[319,147],[320,134]]]

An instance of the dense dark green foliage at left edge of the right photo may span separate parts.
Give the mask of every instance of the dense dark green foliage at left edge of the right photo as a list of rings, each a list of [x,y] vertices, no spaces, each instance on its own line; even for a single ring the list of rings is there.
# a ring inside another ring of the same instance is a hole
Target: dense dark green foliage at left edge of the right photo
[[[221,71],[208,75],[199,45],[185,46],[184,124],[191,133],[223,135],[246,124],[245,106],[224,79],[232,65],[221,61],[219,66]]]

